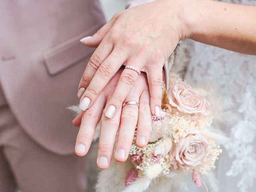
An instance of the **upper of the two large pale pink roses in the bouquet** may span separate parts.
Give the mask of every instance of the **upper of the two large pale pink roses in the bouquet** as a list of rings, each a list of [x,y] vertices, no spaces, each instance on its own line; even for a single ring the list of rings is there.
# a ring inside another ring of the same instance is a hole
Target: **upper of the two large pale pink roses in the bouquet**
[[[208,115],[211,112],[210,104],[205,96],[184,82],[172,83],[168,89],[167,97],[171,106],[192,118]]]

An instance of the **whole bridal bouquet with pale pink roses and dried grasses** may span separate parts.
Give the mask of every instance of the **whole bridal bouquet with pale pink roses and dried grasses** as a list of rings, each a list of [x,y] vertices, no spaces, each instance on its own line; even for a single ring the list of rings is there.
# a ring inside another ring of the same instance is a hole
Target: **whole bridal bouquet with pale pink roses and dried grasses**
[[[212,107],[207,92],[193,89],[170,73],[169,88],[163,88],[160,116],[152,116],[150,139],[144,148],[136,145],[136,132],[126,162],[112,161],[99,173],[97,192],[170,191],[175,185],[188,190],[188,178],[196,186],[213,191],[217,184],[212,170],[220,156],[225,136],[212,128]],[[164,87],[164,86],[163,86]],[[212,105],[214,106],[214,105]]]

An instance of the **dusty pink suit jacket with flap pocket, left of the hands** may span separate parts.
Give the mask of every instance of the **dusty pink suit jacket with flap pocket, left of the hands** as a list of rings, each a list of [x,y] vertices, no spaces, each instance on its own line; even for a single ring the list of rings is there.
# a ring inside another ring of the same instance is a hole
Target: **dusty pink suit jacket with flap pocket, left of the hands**
[[[98,0],[0,1],[0,86],[26,133],[52,152],[74,153],[66,107],[78,104],[94,51],[79,40],[104,23]]]

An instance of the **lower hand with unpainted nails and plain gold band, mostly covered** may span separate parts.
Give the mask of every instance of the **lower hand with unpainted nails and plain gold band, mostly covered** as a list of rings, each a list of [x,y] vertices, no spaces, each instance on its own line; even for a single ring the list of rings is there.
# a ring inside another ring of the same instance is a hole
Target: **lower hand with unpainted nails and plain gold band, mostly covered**
[[[75,152],[78,156],[84,156],[88,152],[94,131],[102,116],[102,110],[106,102],[110,100],[121,72],[122,70],[119,70],[117,74],[114,75],[99,94],[98,98],[96,98],[94,104],[85,112],[82,111],[73,120],[74,126],[80,126],[75,147]],[[136,144],[140,147],[146,146],[150,135],[152,119],[149,100],[150,96],[146,74],[142,73],[136,80],[136,86],[132,87],[130,93],[124,100],[124,102],[138,102],[140,107],[138,108],[136,105],[126,105],[118,109],[116,116],[112,119],[106,118],[104,115],[102,116],[97,157],[99,168],[106,169],[110,166],[119,126],[120,130],[114,156],[117,161],[124,162],[128,158],[137,122]]]

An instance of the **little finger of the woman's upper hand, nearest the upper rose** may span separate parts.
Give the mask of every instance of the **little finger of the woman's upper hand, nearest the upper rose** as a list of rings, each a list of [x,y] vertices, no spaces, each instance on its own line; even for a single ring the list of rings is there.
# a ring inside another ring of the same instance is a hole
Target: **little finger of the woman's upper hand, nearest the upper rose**
[[[160,66],[160,65],[159,65]],[[150,92],[150,109],[152,114],[160,116],[162,103],[163,73],[162,67],[147,70],[148,86]]]

